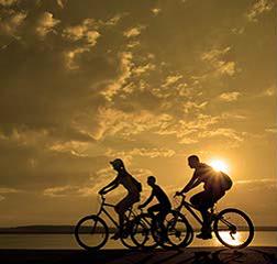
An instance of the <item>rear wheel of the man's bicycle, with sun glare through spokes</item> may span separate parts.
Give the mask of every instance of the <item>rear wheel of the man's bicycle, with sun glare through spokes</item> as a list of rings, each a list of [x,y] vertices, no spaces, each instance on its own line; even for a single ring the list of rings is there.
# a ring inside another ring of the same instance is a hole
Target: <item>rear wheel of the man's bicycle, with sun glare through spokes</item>
[[[254,226],[250,217],[235,208],[224,209],[217,216],[213,231],[218,240],[230,249],[243,249],[254,238]]]

